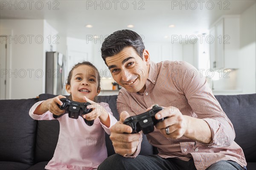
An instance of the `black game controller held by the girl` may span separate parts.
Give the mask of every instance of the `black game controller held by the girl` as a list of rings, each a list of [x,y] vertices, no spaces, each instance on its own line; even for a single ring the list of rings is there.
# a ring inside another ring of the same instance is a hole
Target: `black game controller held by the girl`
[[[86,102],[86,103],[79,103],[79,102],[76,102],[76,101],[71,101],[67,98],[61,98],[60,99],[61,102],[62,102],[62,105],[59,105],[58,106],[60,107],[60,109],[65,109],[65,113],[68,113],[68,117],[70,118],[74,118],[74,119],[78,119],[79,116],[82,117],[82,114],[87,114],[87,113],[90,113],[92,111],[92,109],[87,109],[87,106],[88,105],[91,105],[89,102]],[[53,115],[53,118],[59,118],[61,116],[63,116],[64,114],[61,114],[61,115]],[[85,118],[84,118],[84,122],[88,125],[88,126],[92,126],[93,123],[94,123],[94,120],[92,121],[87,121]]]

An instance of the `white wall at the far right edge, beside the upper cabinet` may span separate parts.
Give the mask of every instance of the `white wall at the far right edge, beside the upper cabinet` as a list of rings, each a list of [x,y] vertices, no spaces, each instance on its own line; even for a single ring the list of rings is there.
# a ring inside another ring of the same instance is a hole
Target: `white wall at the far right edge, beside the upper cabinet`
[[[240,17],[238,86],[243,94],[256,93],[256,3]]]

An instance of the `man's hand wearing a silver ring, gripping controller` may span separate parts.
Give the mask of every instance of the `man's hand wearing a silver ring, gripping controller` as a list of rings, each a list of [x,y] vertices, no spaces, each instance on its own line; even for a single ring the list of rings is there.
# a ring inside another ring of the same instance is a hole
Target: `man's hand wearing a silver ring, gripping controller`
[[[166,138],[180,138],[186,134],[188,120],[176,107],[163,107],[164,109],[155,115],[156,119],[166,118],[156,124],[156,128],[166,136]],[[149,109],[149,108],[148,108]],[[169,134],[166,134],[169,128]]]

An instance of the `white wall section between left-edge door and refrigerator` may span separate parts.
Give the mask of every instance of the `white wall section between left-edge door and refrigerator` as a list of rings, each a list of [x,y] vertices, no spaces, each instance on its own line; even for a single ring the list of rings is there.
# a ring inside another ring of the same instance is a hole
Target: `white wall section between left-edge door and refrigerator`
[[[44,20],[1,19],[0,29],[10,30],[13,38],[7,40],[11,46],[7,98],[35,98],[43,89]]]

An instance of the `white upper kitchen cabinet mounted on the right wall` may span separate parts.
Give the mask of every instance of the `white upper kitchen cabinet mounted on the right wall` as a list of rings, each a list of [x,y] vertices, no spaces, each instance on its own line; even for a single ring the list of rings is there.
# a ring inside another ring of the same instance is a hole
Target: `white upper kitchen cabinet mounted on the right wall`
[[[224,16],[209,31],[210,68],[237,69],[240,41],[239,16]]]

